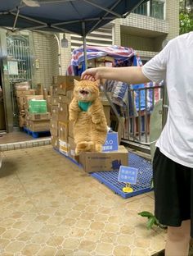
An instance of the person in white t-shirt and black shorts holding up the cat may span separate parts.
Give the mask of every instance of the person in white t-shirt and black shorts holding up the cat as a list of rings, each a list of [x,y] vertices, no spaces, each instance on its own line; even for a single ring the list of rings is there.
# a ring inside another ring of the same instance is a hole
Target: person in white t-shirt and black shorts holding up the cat
[[[168,118],[153,161],[155,217],[168,226],[165,255],[188,255],[193,237],[193,32],[170,40],[142,67],[96,67],[84,71],[82,79],[133,85],[165,80]]]

